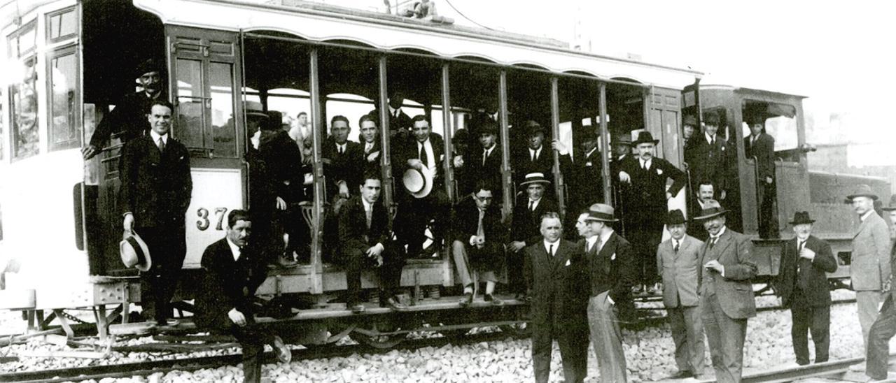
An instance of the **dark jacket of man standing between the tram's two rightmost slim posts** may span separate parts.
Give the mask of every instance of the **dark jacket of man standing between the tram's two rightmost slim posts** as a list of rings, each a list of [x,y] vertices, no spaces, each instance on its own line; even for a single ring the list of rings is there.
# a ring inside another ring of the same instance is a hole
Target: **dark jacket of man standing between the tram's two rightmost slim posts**
[[[604,200],[602,169],[600,151],[597,149],[592,150],[589,156],[581,150],[577,151],[575,161],[569,154],[560,156],[560,170],[569,183],[570,200],[576,208],[584,209]]]

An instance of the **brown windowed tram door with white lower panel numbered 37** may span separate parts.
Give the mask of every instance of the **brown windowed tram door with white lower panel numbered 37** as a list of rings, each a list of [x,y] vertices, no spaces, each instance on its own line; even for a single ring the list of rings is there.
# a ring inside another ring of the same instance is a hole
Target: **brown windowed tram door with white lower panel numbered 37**
[[[167,26],[166,37],[172,134],[189,149],[193,174],[184,267],[199,268],[205,247],[224,236],[228,212],[246,206],[238,35]]]

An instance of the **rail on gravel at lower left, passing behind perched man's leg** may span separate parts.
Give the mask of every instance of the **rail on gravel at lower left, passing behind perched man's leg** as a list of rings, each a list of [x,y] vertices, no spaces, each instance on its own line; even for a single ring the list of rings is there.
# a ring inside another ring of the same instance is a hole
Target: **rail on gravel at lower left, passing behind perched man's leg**
[[[391,349],[375,348],[367,345],[326,345],[312,348],[300,348],[292,350],[292,360],[313,360],[335,357],[348,357],[353,353],[389,353],[392,350],[416,350],[424,347],[442,347],[444,345],[473,345],[479,342],[491,342],[508,337],[520,337],[521,335],[508,334],[501,331],[480,333],[470,336],[442,336],[424,339],[409,339]],[[275,362],[273,353],[265,353],[265,362]],[[38,370],[0,373],[0,382],[22,383],[61,383],[67,381],[82,381],[89,379],[106,378],[130,378],[134,376],[149,376],[155,373],[167,373],[173,370],[202,370],[218,368],[226,365],[237,365],[242,361],[241,354],[209,356],[198,358],[181,358],[152,362],[132,362],[115,365],[101,365],[78,367],[72,369]]]

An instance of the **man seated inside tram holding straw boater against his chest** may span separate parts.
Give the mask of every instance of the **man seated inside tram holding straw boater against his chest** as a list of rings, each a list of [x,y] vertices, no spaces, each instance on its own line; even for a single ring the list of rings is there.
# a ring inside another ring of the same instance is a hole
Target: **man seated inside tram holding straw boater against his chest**
[[[408,245],[409,258],[430,258],[441,250],[451,217],[451,201],[445,194],[440,170],[444,161],[444,141],[441,135],[430,131],[426,115],[417,115],[412,121],[414,140],[396,153],[394,166],[398,171],[395,174],[405,174],[409,170],[418,174],[430,173],[432,183],[423,185],[421,191],[427,192],[398,189],[401,191],[400,202],[393,227],[399,241]],[[433,243],[423,249],[427,227],[431,228]]]

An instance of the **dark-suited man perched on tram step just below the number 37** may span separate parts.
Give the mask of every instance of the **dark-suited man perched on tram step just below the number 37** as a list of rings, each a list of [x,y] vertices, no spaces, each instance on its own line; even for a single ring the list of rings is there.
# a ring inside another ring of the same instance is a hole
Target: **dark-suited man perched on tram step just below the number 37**
[[[250,243],[252,219],[246,210],[233,209],[224,238],[202,252],[202,289],[196,296],[197,328],[232,335],[243,349],[243,381],[262,379],[264,345],[277,359],[289,363],[292,353],[280,336],[255,323],[255,290],[264,282],[264,260]]]

